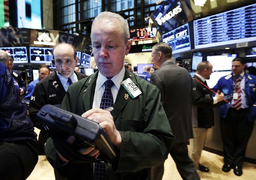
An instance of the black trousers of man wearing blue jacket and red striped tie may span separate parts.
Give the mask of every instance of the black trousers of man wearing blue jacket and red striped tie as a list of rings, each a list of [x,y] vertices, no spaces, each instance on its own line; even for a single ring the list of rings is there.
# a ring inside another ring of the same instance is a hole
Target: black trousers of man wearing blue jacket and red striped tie
[[[224,163],[242,167],[247,143],[254,122],[247,120],[248,109],[229,108],[225,118],[220,117],[220,132],[223,142]]]

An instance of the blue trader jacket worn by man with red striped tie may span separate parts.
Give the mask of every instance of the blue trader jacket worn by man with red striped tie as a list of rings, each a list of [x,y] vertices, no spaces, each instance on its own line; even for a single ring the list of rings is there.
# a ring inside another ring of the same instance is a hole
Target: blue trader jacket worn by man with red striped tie
[[[245,77],[245,95],[249,103],[249,110],[247,112],[248,121],[252,122],[256,119],[256,76],[246,74]],[[233,96],[234,91],[234,81],[233,74],[228,76],[223,76],[220,78],[218,83],[212,88],[215,92],[220,90],[225,96]],[[231,103],[231,102],[229,102]],[[219,107],[219,116],[225,118],[228,113],[228,104],[221,105]]]

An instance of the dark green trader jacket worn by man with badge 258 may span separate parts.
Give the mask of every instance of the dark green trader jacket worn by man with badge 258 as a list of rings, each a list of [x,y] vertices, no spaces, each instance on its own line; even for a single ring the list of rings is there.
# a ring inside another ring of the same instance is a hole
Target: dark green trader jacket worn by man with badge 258
[[[61,107],[78,115],[92,109],[97,77],[98,72],[69,86]],[[125,69],[124,80],[127,78],[131,78],[142,93],[135,98],[129,95],[127,100],[125,94],[128,93],[124,87],[121,86],[118,91],[111,114],[116,129],[121,134],[122,143],[118,161],[106,167],[108,180],[147,179],[150,176],[150,167],[167,159],[175,138],[156,86]],[[46,143],[45,154],[48,161],[56,168],[56,150],[51,140]],[[77,173],[93,173],[86,170],[77,172],[79,169],[77,166],[81,164],[73,164],[74,167],[76,166],[73,169],[71,164],[69,162],[66,165],[68,168],[56,169],[62,176],[76,175],[76,178]]]

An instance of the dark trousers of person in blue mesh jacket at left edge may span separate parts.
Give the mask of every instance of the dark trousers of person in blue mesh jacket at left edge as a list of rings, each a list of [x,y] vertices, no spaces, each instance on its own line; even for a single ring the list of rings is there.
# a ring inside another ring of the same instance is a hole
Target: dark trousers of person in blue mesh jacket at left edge
[[[37,140],[0,142],[0,179],[27,179],[36,166]]]

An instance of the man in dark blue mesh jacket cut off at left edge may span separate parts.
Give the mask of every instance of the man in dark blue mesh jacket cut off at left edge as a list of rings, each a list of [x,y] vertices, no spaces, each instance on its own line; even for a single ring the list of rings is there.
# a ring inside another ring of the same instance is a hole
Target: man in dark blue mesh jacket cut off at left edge
[[[0,177],[24,180],[38,161],[37,140],[8,63],[8,54],[0,50]]]

